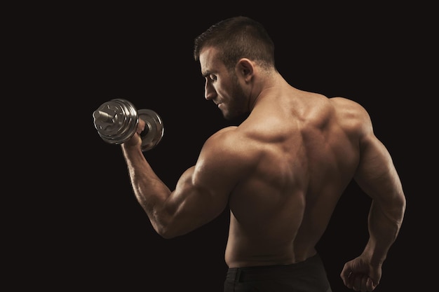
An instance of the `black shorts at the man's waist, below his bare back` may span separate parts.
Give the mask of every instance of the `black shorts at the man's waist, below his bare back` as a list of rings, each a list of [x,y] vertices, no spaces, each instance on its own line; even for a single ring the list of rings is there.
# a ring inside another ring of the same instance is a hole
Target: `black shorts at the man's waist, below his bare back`
[[[224,292],[332,292],[320,256],[300,263],[227,270]]]

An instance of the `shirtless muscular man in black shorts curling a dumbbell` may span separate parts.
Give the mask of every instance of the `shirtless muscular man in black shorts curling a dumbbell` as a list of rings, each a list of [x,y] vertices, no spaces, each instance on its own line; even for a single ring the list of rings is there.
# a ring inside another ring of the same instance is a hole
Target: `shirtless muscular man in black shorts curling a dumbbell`
[[[212,25],[196,38],[194,57],[205,99],[224,118],[248,117],[209,137],[174,190],[140,149],[140,121],[121,148],[156,232],[184,235],[229,207],[224,291],[331,291],[315,246],[354,179],[372,198],[370,237],[341,277],[355,291],[374,290],[403,222],[405,195],[367,111],[292,87],[275,67],[269,35],[249,18]]]

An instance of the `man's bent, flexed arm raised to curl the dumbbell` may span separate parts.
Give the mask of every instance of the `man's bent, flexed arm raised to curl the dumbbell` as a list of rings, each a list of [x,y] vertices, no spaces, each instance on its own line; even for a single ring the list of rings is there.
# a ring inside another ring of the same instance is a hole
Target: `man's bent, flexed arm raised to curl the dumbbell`
[[[183,235],[217,217],[227,207],[234,185],[228,167],[220,159],[221,139],[211,137],[203,146],[196,165],[187,169],[171,191],[156,175],[141,151],[142,132],[121,145],[133,191],[151,225],[163,237]],[[227,178],[230,178],[227,180]]]

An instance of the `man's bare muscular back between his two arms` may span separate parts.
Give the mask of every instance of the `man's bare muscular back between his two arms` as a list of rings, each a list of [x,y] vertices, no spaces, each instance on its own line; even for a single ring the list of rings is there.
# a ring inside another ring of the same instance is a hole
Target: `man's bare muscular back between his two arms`
[[[252,158],[229,200],[229,267],[297,263],[316,253],[358,165],[357,107],[284,88],[228,133]]]

